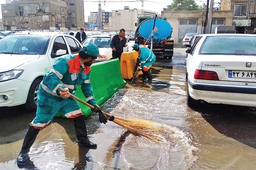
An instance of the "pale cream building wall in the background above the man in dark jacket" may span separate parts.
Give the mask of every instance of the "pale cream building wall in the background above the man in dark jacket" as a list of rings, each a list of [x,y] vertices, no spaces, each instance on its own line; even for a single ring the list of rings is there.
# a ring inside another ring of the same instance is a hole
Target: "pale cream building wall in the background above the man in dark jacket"
[[[137,23],[137,9],[115,10],[112,11],[112,17],[109,17],[109,29],[119,31],[124,28],[126,31],[135,31]]]

